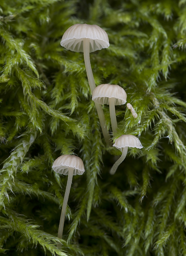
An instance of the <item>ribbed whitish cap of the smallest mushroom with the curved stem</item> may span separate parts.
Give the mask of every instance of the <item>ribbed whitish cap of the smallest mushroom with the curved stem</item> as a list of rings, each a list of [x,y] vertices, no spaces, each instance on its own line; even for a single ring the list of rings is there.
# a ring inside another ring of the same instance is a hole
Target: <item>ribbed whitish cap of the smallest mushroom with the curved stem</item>
[[[143,148],[140,140],[134,135],[121,135],[118,139],[115,140],[113,147],[116,147],[121,152],[125,147]]]

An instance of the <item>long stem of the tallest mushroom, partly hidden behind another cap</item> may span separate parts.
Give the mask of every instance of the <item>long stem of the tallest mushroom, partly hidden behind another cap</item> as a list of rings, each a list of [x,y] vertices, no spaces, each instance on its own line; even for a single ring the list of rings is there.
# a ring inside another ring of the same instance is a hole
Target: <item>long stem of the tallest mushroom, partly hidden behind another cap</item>
[[[85,61],[85,68],[87,72],[87,77],[89,81],[89,86],[90,86],[90,91],[91,93],[94,91],[96,88],[95,81],[94,81],[94,76],[92,74],[92,68],[90,65],[90,40],[89,38],[85,38],[83,41],[83,54],[84,54],[84,61]],[[101,130],[103,132],[103,136],[105,138],[105,142],[107,145],[110,145],[110,136],[109,133],[107,132],[106,128],[106,121],[105,121],[105,116],[103,113],[103,109],[101,107],[101,104],[95,103],[96,109],[97,109],[97,114],[99,117],[99,122],[101,125]]]

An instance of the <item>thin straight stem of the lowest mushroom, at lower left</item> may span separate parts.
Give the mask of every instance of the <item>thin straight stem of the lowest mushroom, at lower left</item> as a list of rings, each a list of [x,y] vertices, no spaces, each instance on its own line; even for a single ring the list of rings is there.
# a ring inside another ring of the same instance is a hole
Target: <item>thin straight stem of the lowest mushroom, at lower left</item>
[[[65,221],[65,215],[66,215],[66,206],[67,206],[70,188],[71,188],[71,184],[72,184],[73,172],[74,172],[74,168],[68,169],[68,180],[67,180],[67,184],[66,184],[66,190],[65,190],[64,200],[63,200],[61,217],[60,217],[60,221],[59,221],[58,238],[62,238],[62,236],[63,236],[63,227],[64,227],[64,221]]]

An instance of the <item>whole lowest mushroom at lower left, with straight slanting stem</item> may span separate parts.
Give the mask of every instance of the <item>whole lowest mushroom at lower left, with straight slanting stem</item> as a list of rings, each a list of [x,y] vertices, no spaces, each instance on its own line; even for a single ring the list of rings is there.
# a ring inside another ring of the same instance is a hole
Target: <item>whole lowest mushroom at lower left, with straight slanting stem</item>
[[[63,227],[66,215],[66,206],[68,202],[68,197],[70,193],[70,188],[72,184],[72,177],[73,175],[82,175],[85,171],[83,161],[80,157],[74,155],[63,155],[59,156],[53,163],[52,169],[56,173],[68,175],[68,180],[66,184],[65,196],[63,200],[63,206],[61,211],[61,217],[59,222],[59,229],[58,229],[58,237],[62,238],[63,236]]]

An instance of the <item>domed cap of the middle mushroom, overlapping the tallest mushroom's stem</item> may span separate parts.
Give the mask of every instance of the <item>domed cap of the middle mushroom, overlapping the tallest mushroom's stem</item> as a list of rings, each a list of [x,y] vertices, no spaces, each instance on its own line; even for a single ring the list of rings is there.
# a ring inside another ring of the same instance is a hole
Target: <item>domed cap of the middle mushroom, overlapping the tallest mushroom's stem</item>
[[[115,98],[115,105],[122,105],[127,102],[127,93],[117,84],[100,84],[92,93],[92,100],[99,104],[109,105],[109,98]]]

